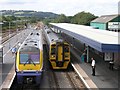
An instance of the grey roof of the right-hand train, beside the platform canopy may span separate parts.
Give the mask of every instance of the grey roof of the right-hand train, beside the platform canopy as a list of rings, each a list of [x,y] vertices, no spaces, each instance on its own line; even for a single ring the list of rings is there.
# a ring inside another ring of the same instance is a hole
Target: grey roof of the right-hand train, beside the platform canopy
[[[63,42],[63,39],[56,35],[51,29],[46,28],[45,34],[49,43]]]

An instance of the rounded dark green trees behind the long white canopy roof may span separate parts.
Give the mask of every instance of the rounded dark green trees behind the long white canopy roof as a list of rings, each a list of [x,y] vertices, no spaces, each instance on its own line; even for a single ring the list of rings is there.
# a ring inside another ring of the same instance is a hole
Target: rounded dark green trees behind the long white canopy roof
[[[75,14],[74,16],[66,16],[65,14],[59,15],[55,19],[46,19],[44,20],[45,24],[48,24],[50,22],[52,23],[72,23],[72,24],[80,24],[80,25],[90,25],[90,22],[97,18],[98,16],[95,16],[94,14],[91,14],[89,12],[80,12]]]

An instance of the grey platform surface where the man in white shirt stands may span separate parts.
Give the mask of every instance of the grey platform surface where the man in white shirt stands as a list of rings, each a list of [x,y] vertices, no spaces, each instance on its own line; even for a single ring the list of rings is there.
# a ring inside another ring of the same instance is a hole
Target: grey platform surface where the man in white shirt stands
[[[82,73],[85,72],[87,76],[89,77],[89,79],[93,81],[93,83],[97,86],[98,89],[103,89],[103,90],[104,89],[105,90],[106,89],[107,90],[118,90],[119,89],[118,70],[116,69],[110,70],[108,62],[104,62],[104,60],[102,60],[100,56],[91,54],[92,56],[94,56],[96,60],[96,70],[95,70],[96,76],[92,76],[91,63],[82,62],[81,57],[80,57],[82,53],[77,52],[75,49],[71,48],[71,52],[77,58],[76,63],[79,63],[80,68],[83,70]]]

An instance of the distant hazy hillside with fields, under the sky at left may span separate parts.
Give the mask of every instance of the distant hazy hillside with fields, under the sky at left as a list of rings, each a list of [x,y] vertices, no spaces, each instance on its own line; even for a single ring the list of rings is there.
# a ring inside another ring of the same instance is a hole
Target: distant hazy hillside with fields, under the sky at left
[[[37,12],[32,10],[1,10],[4,16],[15,15],[17,17],[56,18],[58,14],[52,12]]]

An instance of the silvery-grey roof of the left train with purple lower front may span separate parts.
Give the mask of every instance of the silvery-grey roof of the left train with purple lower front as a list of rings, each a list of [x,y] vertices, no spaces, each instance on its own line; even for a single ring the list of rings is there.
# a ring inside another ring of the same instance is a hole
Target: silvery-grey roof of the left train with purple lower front
[[[20,48],[27,47],[36,47],[42,49],[42,36],[41,32],[37,30],[33,30],[28,37],[25,39]]]

